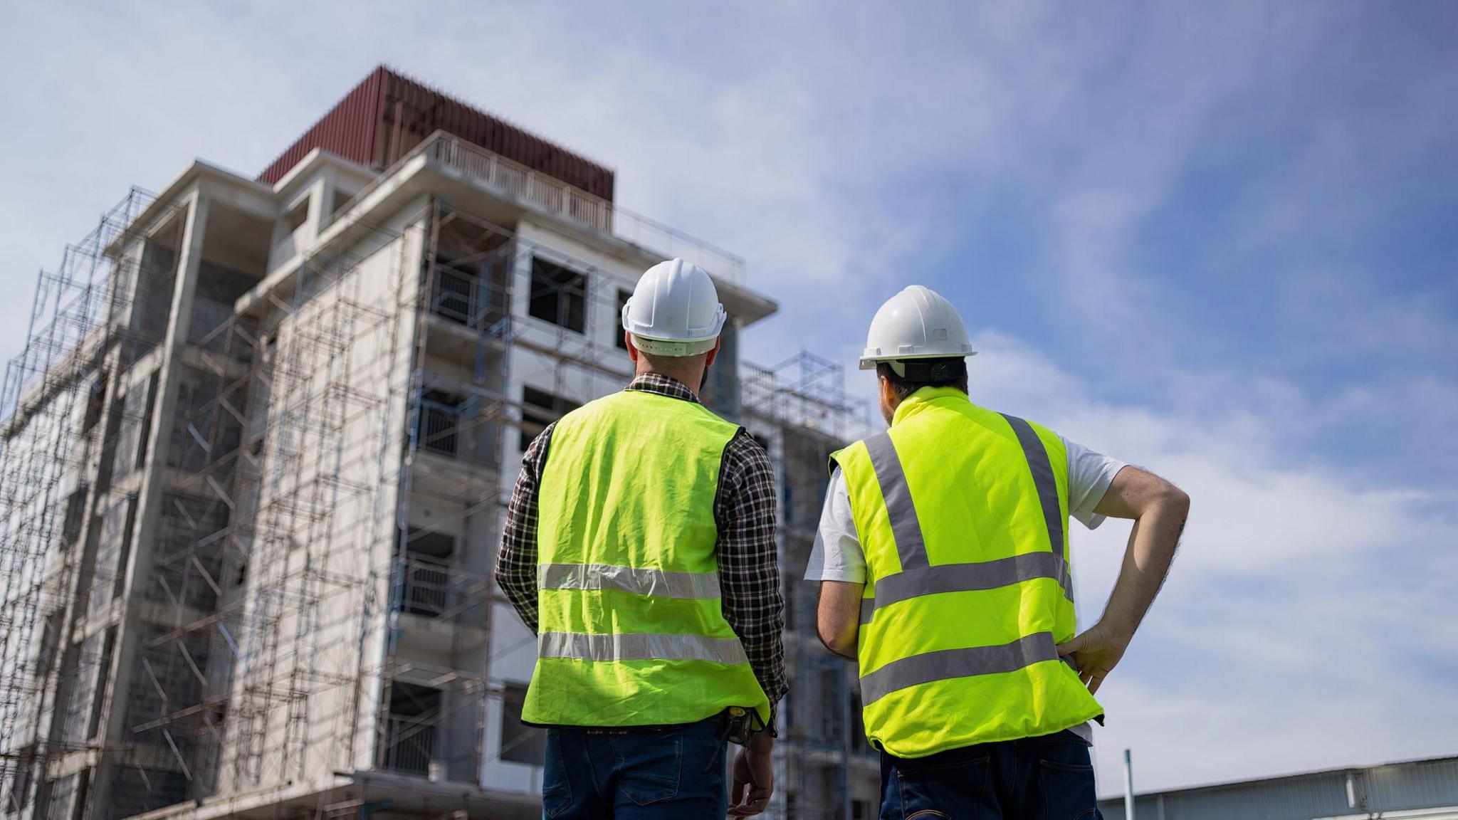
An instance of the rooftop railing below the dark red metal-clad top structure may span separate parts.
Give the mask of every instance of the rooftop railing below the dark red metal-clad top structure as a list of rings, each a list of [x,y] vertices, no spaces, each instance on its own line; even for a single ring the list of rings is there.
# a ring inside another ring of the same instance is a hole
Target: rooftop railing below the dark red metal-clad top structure
[[[574,188],[561,179],[532,171],[446,131],[436,131],[399,162],[408,162],[416,155],[424,155],[436,165],[452,168],[504,196],[564,216],[585,228],[633,242],[656,255],[681,257],[703,266],[709,273],[726,282],[744,285],[744,260],[729,251]],[[385,177],[389,174],[382,175],[382,178]],[[356,200],[366,196],[369,190],[360,191]]]

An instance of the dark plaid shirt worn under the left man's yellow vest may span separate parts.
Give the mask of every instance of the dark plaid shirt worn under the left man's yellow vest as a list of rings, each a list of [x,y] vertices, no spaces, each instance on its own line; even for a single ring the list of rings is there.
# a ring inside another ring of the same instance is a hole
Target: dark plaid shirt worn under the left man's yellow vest
[[[644,374],[633,379],[627,390],[656,392],[671,398],[698,403],[688,387],[669,376]],[[522,471],[516,477],[512,500],[506,508],[502,549],[496,556],[496,581],[516,614],[537,632],[537,493],[541,486],[547,448],[551,446],[548,425],[522,455]],[[774,731],[774,708],[789,690],[784,677],[784,600],[780,597],[779,554],[774,543],[776,495],[774,468],[770,457],[749,433],[739,430],[725,448],[719,471],[719,495],[714,498],[714,521],[719,522],[719,588],[723,595],[725,620],[739,636],[754,676],[770,697],[770,731]]]

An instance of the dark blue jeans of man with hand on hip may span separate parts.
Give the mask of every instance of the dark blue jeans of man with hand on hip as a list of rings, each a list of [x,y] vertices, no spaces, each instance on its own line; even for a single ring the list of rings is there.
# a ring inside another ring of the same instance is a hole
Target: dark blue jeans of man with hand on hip
[[[881,753],[882,820],[1102,820],[1079,735],[967,746],[904,760]]]

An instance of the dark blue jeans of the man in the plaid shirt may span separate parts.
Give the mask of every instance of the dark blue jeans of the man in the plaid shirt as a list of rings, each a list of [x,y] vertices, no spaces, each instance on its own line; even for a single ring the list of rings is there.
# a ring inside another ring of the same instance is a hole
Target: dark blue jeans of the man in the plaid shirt
[[[725,721],[659,730],[547,730],[542,817],[723,817]]]

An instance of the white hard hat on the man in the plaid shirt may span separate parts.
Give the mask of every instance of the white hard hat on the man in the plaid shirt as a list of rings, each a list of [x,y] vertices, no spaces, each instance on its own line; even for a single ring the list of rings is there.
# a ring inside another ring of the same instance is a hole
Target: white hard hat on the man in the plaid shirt
[[[709,271],[684,260],[647,268],[623,305],[623,330],[633,334],[634,347],[650,356],[713,350],[725,318]]]

